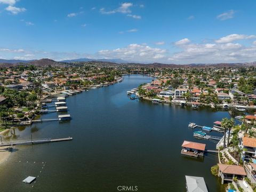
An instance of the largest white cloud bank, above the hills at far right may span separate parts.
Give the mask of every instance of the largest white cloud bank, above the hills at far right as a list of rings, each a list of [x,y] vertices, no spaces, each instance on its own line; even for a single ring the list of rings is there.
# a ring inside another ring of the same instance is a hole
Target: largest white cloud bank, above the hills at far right
[[[177,63],[250,62],[256,60],[256,46],[231,43],[238,39],[255,38],[254,35],[228,35],[215,43],[187,43],[179,46],[169,61]]]

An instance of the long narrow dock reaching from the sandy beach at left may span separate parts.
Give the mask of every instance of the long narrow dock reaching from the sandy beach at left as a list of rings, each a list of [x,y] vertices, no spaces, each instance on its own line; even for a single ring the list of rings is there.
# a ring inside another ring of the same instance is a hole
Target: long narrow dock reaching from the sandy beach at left
[[[15,141],[15,142],[10,142],[10,143],[3,143],[0,145],[0,147],[4,146],[17,146],[17,145],[33,145],[33,144],[39,144],[39,143],[47,143],[47,142],[58,142],[58,141],[69,141],[73,140],[73,138],[68,137],[68,138],[60,138],[60,139],[36,139],[36,140],[27,140],[27,141]]]

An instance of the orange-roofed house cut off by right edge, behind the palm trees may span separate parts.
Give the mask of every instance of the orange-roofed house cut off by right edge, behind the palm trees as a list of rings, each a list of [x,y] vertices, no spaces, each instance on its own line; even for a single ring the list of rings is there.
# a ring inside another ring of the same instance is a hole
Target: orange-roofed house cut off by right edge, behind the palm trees
[[[255,157],[256,154],[256,138],[247,138],[243,137],[242,140],[239,141],[238,145],[242,152],[243,161],[249,161],[250,159]]]

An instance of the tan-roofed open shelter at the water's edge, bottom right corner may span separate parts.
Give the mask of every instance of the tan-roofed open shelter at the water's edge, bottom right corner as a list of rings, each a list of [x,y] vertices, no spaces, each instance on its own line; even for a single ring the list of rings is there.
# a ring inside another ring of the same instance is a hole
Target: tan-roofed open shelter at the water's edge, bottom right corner
[[[243,166],[239,165],[227,165],[227,164],[220,164],[219,166],[219,174],[218,176],[221,177],[221,183],[223,184],[224,181],[232,182],[235,177],[239,180],[243,180],[246,176],[246,172]]]

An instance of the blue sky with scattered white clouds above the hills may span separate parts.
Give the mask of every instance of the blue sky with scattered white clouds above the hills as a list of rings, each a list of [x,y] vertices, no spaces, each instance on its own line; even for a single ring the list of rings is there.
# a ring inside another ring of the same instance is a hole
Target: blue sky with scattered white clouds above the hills
[[[256,2],[0,0],[0,58],[256,61]]]

